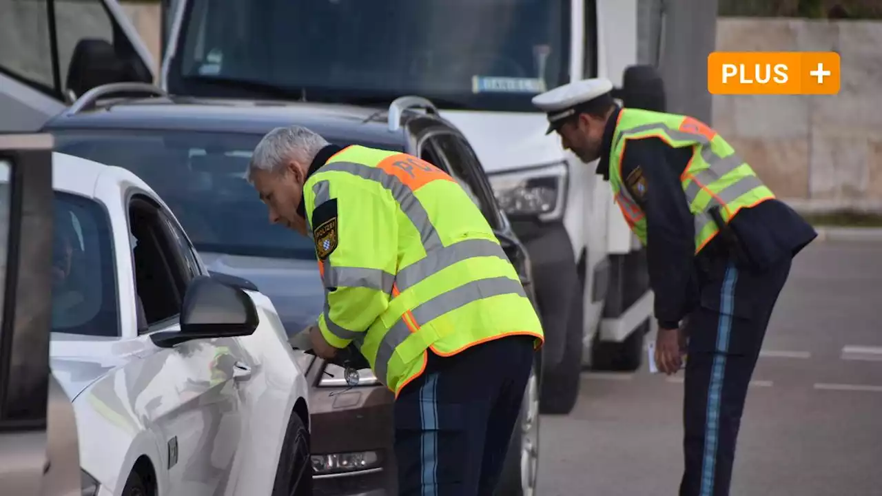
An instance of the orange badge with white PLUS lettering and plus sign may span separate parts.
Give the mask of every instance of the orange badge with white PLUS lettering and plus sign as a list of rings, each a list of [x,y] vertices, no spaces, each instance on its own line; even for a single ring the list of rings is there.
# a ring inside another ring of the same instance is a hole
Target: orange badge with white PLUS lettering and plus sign
[[[707,57],[711,94],[837,94],[836,52],[714,52]]]

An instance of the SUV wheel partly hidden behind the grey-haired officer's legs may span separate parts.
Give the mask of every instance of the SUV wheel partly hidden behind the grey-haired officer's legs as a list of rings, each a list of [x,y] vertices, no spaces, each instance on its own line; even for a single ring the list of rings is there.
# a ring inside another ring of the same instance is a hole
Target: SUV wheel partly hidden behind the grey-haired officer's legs
[[[539,469],[539,378],[530,372],[518,423],[505,454],[496,496],[533,496]]]

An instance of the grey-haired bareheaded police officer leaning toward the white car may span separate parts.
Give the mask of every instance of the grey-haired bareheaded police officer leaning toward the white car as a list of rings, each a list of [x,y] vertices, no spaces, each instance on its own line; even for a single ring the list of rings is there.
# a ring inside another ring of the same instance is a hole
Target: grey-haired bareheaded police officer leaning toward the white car
[[[491,494],[543,337],[475,203],[415,156],[299,126],[267,133],[248,174],[270,222],[315,241],[317,355],[355,344],[395,393],[400,494]]]

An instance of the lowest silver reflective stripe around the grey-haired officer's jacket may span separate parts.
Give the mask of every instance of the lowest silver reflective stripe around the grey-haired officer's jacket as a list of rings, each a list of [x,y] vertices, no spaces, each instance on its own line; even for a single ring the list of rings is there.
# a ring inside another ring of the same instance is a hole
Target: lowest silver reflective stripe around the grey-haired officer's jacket
[[[521,297],[527,296],[520,282],[514,279],[509,279],[505,276],[479,279],[467,282],[459,288],[451,289],[437,297],[431,298],[429,301],[417,305],[410,313],[414,316],[417,325],[423,325],[432,319],[436,319],[447,312],[452,312],[460,308],[460,306],[475,300],[508,294],[516,294]],[[386,381],[386,374],[389,372],[389,360],[392,358],[392,353],[409,335],[410,328],[407,327],[407,323],[402,318],[395,322],[385,336],[383,336],[383,340],[377,348],[374,371],[377,372],[377,377],[381,378],[384,383]],[[364,339],[364,336],[361,336],[359,339]]]

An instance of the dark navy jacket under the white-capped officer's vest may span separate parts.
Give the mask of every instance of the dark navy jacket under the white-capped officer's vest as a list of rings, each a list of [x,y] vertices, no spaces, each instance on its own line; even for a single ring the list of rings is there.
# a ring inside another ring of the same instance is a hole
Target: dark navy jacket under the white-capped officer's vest
[[[609,116],[603,134],[597,173],[609,181],[609,153],[620,109]],[[696,304],[697,287],[694,217],[680,184],[680,175],[692,154],[691,147],[669,147],[662,139],[634,139],[622,158],[622,177],[640,167],[646,192],[639,200],[647,219],[647,262],[649,282],[655,297],[655,318],[659,327],[678,327]],[[624,186],[623,186],[624,187]],[[741,209],[729,222],[750,261],[751,270],[764,271],[784,257],[794,257],[818,236],[811,225],[778,199],[769,199]],[[714,237],[698,257],[728,256],[721,236]]]

